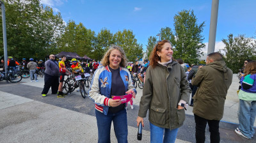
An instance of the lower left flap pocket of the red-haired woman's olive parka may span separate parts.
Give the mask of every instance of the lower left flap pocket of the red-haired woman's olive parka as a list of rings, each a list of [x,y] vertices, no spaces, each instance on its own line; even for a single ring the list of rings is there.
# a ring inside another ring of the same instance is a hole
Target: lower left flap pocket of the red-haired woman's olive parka
[[[165,109],[150,107],[149,118],[157,124],[165,124]]]

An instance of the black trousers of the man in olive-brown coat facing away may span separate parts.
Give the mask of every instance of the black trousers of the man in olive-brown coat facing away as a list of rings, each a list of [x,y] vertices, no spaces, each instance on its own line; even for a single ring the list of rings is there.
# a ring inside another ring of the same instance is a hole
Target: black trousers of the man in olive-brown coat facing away
[[[203,117],[195,116],[196,123],[196,143],[204,143],[205,142],[205,127],[208,123],[209,130],[211,132],[210,139],[211,143],[219,143],[220,142],[220,132],[219,132],[219,123],[217,120],[208,120]]]

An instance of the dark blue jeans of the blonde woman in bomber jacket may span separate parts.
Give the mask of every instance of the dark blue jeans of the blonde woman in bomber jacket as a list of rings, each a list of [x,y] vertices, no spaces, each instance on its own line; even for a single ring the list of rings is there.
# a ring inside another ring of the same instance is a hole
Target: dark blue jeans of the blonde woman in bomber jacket
[[[116,139],[119,142],[127,142],[128,127],[126,110],[120,110],[113,114],[104,115],[102,112],[95,110],[98,126],[98,142],[110,142],[110,128],[113,121]]]

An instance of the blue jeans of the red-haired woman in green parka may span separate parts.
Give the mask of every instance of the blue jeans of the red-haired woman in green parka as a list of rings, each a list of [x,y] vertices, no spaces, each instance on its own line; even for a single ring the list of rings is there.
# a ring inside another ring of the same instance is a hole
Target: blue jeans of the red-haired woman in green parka
[[[174,143],[177,137],[179,128],[175,128],[170,130],[170,128],[161,128],[150,123],[150,142],[151,143],[159,143],[159,142],[170,142]],[[163,140],[164,135],[164,140]]]

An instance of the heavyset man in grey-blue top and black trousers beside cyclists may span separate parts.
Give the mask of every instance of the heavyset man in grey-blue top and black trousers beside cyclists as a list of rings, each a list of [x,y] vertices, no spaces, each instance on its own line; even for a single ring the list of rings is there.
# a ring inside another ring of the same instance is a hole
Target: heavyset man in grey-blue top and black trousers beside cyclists
[[[44,89],[42,96],[45,97],[50,87],[52,88],[52,94],[57,94],[59,86],[59,66],[54,60],[55,56],[50,55],[50,59],[45,62],[45,76],[44,76]]]

